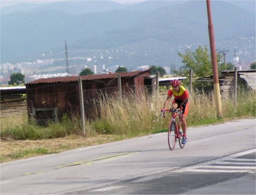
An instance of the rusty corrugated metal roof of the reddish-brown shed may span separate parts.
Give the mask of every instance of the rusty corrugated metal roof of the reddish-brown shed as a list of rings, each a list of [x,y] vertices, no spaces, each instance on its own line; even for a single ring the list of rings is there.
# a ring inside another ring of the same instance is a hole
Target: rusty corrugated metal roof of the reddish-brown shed
[[[41,78],[26,83],[26,85],[34,85],[40,83],[56,83],[56,82],[76,82],[81,78],[82,80],[102,80],[102,79],[113,79],[117,78],[117,75],[120,74],[121,77],[133,77],[145,72],[150,72],[150,70],[145,71],[134,71],[134,72],[120,72],[120,73],[110,73],[110,74],[96,74],[96,75],[87,75],[87,76],[67,76],[67,77],[56,77],[56,78]]]

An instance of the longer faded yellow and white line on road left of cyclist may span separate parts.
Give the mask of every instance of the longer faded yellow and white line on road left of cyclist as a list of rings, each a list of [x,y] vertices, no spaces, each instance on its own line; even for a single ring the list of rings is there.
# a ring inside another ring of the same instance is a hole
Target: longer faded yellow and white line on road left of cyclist
[[[76,165],[91,165],[93,163],[100,163],[100,162],[105,162],[108,160],[114,160],[117,158],[123,158],[125,156],[131,156],[134,154],[138,154],[139,152],[130,152],[130,153],[121,153],[121,154],[116,154],[113,156],[104,156],[104,157],[100,157],[100,158],[95,158],[92,160],[81,160],[75,163],[71,163],[71,164],[67,164],[67,165],[59,165],[57,167],[71,167],[71,166],[76,166]]]

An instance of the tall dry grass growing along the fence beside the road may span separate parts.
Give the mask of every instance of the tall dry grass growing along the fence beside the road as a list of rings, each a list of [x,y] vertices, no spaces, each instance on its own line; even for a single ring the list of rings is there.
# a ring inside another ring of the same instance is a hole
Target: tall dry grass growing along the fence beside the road
[[[102,96],[100,100],[95,100],[95,111],[98,112],[96,115],[100,117],[94,121],[85,120],[86,137],[94,137],[98,134],[132,137],[163,131],[167,128],[168,118],[163,118],[160,110],[166,95],[153,94],[150,96],[141,90],[137,94],[124,95],[122,100],[116,95]],[[189,101],[188,126],[219,121],[214,95],[193,94]],[[229,120],[236,117],[255,117],[255,102],[254,91],[239,93],[236,106],[234,106],[232,97],[223,98],[221,100],[223,118]],[[7,137],[11,139],[49,139],[82,134],[78,117],[62,120],[59,124],[39,127],[30,124],[26,116],[1,118],[0,133],[1,139]],[[17,136],[17,134],[20,135]],[[35,137],[33,138],[33,136]]]

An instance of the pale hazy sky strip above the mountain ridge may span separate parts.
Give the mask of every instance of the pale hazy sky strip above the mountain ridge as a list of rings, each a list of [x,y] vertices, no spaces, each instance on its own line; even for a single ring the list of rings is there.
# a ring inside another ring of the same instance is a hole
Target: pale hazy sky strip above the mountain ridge
[[[0,7],[15,5],[21,2],[26,3],[48,3],[48,2],[56,2],[63,0],[0,0]],[[131,3],[131,2],[143,2],[144,0],[112,0],[118,3]]]

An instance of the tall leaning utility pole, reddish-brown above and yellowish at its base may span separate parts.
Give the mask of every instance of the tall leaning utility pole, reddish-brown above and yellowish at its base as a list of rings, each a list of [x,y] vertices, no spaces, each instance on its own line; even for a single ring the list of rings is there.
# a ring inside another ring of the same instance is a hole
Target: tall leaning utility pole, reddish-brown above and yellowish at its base
[[[210,0],[206,0],[206,6],[207,6],[207,15],[208,15],[210,54],[211,54],[212,67],[213,67],[213,86],[214,86],[215,105],[217,108],[217,117],[220,119],[222,118],[221,98],[220,98],[217,54],[216,54],[216,47],[215,47],[215,37],[214,37],[213,19],[212,19]]]

